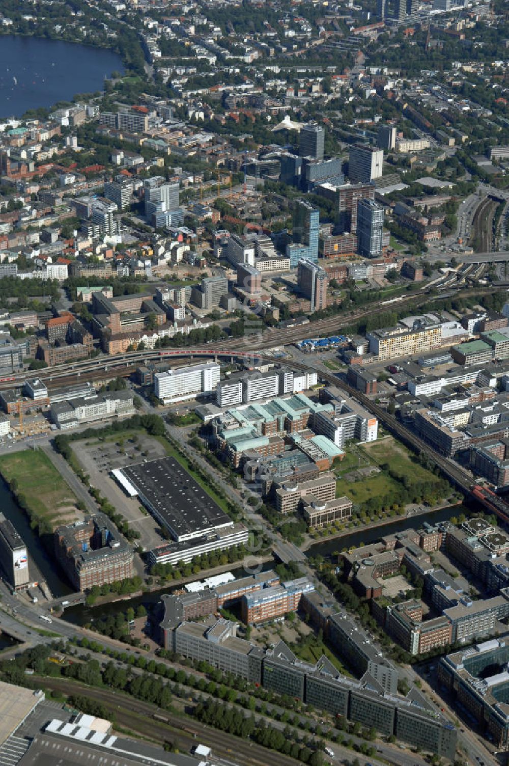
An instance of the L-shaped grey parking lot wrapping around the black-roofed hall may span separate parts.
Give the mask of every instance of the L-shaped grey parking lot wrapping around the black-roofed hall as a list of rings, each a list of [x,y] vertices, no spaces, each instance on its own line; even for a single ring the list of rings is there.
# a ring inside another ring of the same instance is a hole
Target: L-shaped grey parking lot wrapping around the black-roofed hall
[[[142,508],[138,498],[126,496],[111,476],[111,471],[164,457],[162,444],[145,434],[119,434],[102,441],[77,441],[73,444],[73,450],[83,470],[89,474],[90,483],[125,517],[129,526],[139,532],[138,543],[143,550],[161,545],[164,538],[158,523]]]

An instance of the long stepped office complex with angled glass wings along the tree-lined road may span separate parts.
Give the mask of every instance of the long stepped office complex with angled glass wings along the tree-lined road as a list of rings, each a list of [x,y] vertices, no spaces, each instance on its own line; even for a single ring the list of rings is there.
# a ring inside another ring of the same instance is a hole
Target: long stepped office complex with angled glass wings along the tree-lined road
[[[292,587],[298,594],[295,584]],[[273,588],[254,594],[260,603],[264,595],[269,595],[267,613],[272,608],[270,600],[275,599],[273,604],[277,604],[280,597],[278,592],[269,591]],[[306,606],[315,595],[314,590],[302,593],[299,603]],[[243,601],[247,599],[244,597]],[[322,604],[318,604],[318,611],[322,611]],[[325,656],[316,663],[302,662],[283,641],[267,650],[255,647],[239,639],[234,625],[226,620],[189,624],[177,614],[175,620],[171,616],[167,619],[165,614],[162,623],[165,648],[175,651],[178,645],[179,653],[190,659],[209,662],[279,695],[299,699],[367,728],[373,726],[385,735],[395,735],[398,741],[454,759],[455,727],[417,689],[400,696],[396,668],[377,652],[357,623],[342,614],[329,614],[330,611],[326,609],[325,631],[328,632],[329,624],[334,624],[333,642],[363,676],[361,680],[342,676]]]

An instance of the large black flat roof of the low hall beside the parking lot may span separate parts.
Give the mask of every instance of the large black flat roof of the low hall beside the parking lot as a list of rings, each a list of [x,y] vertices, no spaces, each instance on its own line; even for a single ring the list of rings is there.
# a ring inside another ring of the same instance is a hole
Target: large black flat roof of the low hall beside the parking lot
[[[177,540],[232,523],[175,457],[122,468],[122,473]]]

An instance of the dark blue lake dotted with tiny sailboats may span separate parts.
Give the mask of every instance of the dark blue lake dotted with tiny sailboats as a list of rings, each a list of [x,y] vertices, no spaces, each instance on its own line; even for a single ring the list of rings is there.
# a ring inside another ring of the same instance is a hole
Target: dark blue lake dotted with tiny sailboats
[[[123,72],[113,51],[45,38],[0,36],[0,117],[70,101],[76,93],[103,90],[113,71]]]

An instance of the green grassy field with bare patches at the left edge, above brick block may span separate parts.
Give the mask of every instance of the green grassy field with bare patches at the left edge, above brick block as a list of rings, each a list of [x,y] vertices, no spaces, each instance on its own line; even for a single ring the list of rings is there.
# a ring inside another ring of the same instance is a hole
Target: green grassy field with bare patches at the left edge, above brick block
[[[77,518],[76,496],[42,450],[2,455],[0,473],[13,483],[15,495],[24,499],[32,522],[54,529]]]

